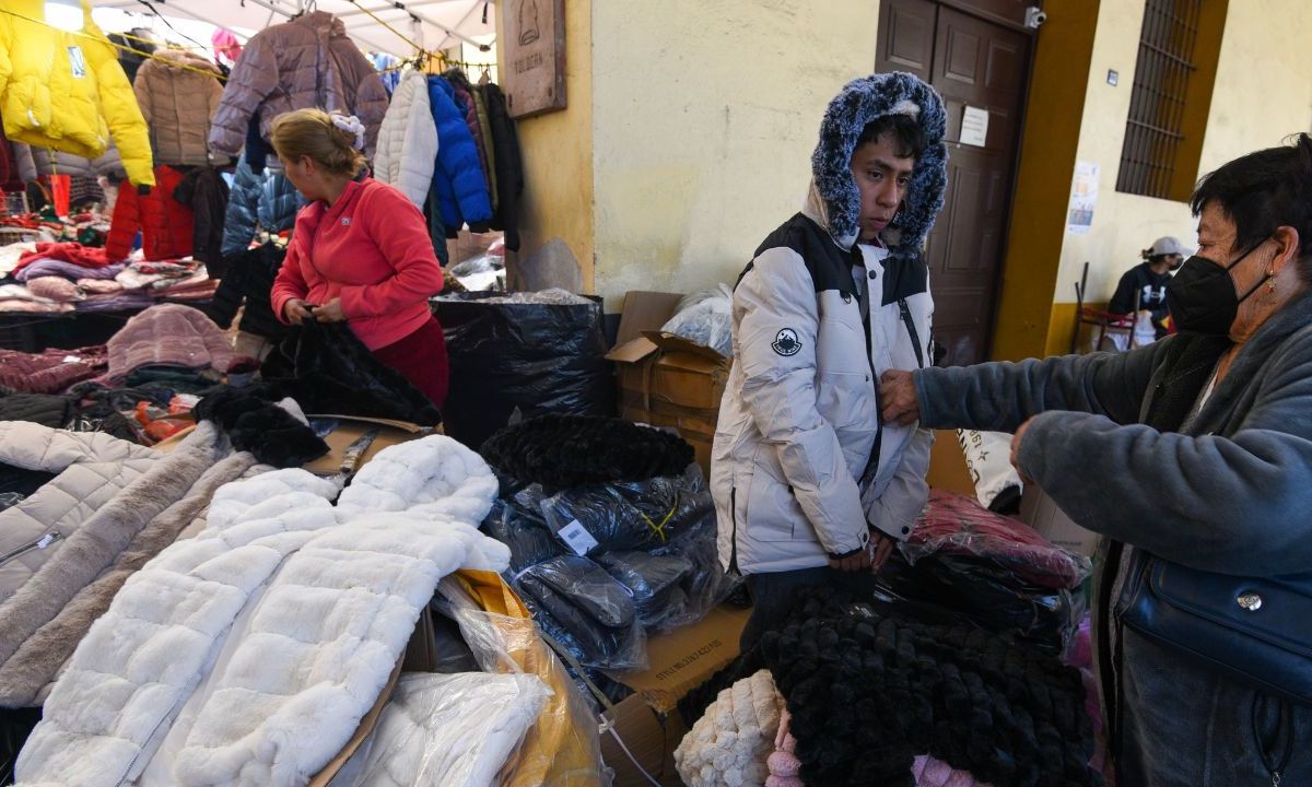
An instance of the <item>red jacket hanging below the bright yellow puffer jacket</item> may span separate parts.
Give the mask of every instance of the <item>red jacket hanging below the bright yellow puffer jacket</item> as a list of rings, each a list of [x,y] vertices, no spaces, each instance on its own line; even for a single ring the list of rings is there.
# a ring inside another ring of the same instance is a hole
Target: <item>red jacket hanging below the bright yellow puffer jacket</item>
[[[192,254],[192,209],[173,199],[173,189],[180,182],[181,172],[160,165],[155,168],[155,188],[150,194],[139,194],[131,186],[119,189],[105,241],[108,260],[126,260],[138,230],[147,260],[178,260]]]

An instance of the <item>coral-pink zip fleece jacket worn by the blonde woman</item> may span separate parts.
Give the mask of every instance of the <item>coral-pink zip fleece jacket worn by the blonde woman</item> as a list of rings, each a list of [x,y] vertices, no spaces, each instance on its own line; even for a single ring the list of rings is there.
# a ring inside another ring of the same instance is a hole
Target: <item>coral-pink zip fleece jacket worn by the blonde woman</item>
[[[273,313],[286,323],[293,298],[341,298],[346,323],[377,350],[419,331],[428,299],[442,290],[424,215],[392,186],[366,177],[346,184],[332,207],[311,202],[297,214],[287,257],[273,282]]]

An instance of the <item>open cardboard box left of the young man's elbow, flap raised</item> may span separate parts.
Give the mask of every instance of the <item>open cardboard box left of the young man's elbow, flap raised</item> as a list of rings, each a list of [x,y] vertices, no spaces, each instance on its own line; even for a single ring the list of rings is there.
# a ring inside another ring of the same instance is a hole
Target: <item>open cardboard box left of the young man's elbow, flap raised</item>
[[[681,299],[677,293],[626,294],[615,346],[606,358],[617,366],[619,417],[677,430],[710,477],[711,442],[732,358],[660,331]]]

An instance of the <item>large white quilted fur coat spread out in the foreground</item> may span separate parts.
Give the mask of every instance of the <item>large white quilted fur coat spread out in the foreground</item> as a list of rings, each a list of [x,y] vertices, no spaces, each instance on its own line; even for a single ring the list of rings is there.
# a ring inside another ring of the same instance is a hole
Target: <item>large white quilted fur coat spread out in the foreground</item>
[[[176,784],[303,784],[320,770],[438,580],[509,565],[475,529],[496,479],[450,438],[387,449],[335,508],[336,492],[300,470],[222,487],[207,529],[133,576],[92,626],[20,756],[20,783],[133,780],[184,707]]]

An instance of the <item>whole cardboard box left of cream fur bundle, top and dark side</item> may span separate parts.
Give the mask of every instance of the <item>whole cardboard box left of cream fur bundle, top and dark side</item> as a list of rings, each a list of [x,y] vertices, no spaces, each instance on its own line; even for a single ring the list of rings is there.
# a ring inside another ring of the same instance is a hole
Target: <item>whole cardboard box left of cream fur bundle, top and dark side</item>
[[[750,611],[722,606],[693,626],[651,637],[646,670],[611,676],[636,691],[602,714],[614,732],[602,732],[601,758],[614,769],[615,787],[649,787],[642,771],[660,784],[682,786],[674,749],[687,727],[676,704],[737,658],[739,636]]]

